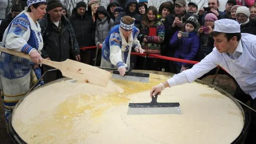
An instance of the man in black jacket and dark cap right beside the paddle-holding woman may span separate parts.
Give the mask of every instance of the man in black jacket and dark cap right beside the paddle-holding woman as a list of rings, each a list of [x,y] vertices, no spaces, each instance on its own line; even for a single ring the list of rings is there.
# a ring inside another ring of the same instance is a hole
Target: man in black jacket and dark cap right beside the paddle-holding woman
[[[77,61],[80,61],[79,47],[76,41],[74,30],[65,16],[62,15],[62,3],[60,0],[49,0],[47,2],[47,14],[44,20],[39,20],[42,29],[44,47],[42,58],[63,62],[70,58],[70,52]],[[43,65],[44,72],[53,69]],[[44,82],[48,83],[58,78],[62,78],[59,70],[47,72]]]

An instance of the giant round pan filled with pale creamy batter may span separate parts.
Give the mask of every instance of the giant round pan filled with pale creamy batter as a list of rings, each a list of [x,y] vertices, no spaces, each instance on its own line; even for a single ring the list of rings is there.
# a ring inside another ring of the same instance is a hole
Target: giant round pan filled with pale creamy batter
[[[250,113],[224,90],[196,80],[166,88],[158,102],[179,102],[182,114],[128,115],[129,103],[150,102],[149,83],[110,80],[107,88],[68,78],[45,84],[18,102],[10,135],[18,144],[242,144]]]

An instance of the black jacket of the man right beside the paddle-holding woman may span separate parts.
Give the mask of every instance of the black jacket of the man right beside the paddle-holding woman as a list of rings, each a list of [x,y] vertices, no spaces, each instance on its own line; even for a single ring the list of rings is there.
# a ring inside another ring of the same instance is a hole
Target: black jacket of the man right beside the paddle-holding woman
[[[44,20],[38,22],[44,41],[44,47],[41,50],[42,58],[49,57],[52,61],[63,62],[70,58],[70,52],[74,56],[79,54],[74,30],[65,16],[61,17],[59,28],[50,20],[49,14],[46,14]]]

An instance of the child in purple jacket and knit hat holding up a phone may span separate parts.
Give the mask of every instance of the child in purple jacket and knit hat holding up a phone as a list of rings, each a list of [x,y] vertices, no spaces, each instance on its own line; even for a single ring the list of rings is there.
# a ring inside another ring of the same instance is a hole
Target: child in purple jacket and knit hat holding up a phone
[[[184,30],[178,30],[170,40],[172,48],[177,47],[174,57],[184,60],[194,60],[199,48],[199,37],[196,34],[196,27],[198,25],[198,15],[193,14],[185,23]],[[190,64],[175,62],[177,73],[191,68]]]

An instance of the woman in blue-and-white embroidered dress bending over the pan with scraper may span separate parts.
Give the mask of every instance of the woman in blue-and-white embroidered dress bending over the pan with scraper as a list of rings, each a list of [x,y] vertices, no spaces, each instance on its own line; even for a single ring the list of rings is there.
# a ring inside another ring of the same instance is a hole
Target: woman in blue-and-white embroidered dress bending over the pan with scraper
[[[134,26],[134,19],[124,16],[120,25],[110,30],[106,40],[102,44],[102,67],[117,68],[121,76],[130,68],[130,54],[132,48],[136,52],[145,52],[137,39],[140,30]]]

